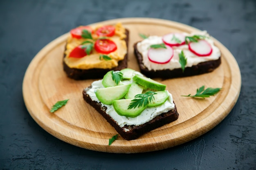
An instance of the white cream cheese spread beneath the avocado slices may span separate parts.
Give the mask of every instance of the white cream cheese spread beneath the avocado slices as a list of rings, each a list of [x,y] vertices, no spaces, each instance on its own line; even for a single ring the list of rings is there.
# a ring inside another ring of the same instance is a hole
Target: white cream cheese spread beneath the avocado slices
[[[131,82],[132,80],[124,81],[123,83],[126,84]],[[97,80],[95,82],[92,82],[92,88],[89,91],[87,91],[87,94],[91,97],[92,101],[100,102],[94,93],[94,91],[97,88],[104,88],[104,86],[102,85],[102,80]],[[125,125],[138,126],[152,120],[153,118],[155,118],[157,115],[160,115],[161,113],[166,113],[169,110],[174,109],[175,104],[173,103],[173,97],[169,92],[168,92],[168,95],[169,95],[169,98],[164,104],[160,106],[155,106],[155,107],[148,107],[137,117],[126,117],[126,116],[118,115],[112,105],[101,103],[101,106],[107,107],[106,113],[110,115],[112,119],[114,119],[121,128],[124,127]],[[126,130],[128,131],[128,129]]]

